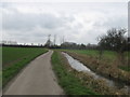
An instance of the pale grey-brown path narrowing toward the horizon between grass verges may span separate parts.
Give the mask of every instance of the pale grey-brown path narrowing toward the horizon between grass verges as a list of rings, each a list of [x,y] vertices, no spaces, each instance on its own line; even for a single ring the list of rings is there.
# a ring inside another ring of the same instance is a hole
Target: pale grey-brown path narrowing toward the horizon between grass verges
[[[51,66],[52,51],[32,60],[11,83],[3,95],[62,95]]]

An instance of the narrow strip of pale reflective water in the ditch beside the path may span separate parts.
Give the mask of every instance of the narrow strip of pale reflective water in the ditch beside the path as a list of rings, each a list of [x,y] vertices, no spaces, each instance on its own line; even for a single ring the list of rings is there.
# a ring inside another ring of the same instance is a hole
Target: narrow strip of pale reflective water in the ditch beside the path
[[[107,78],[104,78],[102,75],[96,74],[95,72],[93,72],[92,70],[90,70],[88,67],[86,67],[83,64],[81,64],[79,60],[74,59],[72,56],[69,56],[67,53],[62,52],[62,54],[67,58],[70,67],[77,71],[83,71],[87,72],[89,74],[91,74],[94,79],[103,79],[106,81],[106,83],[108,84],[108,86],[113,86],[113,87],[117,87],[117,88],[126,88],[126,91],[130,89],[130,86],[127,85],[122,85],[120,83],[116,83],[113,80],[109,80]]]

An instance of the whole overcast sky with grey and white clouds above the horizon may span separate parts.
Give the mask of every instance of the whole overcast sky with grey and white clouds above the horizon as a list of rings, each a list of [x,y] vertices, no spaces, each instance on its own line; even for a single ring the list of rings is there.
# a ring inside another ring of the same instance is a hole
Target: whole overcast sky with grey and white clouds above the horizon
[[[48,34],[51,40],[55,34],[57,44],[63,37],[70,42],[98,43],[96,38],[107,29],[128,28],[128,3],[117,1],[2,2],[2,40],[44,43]]]

